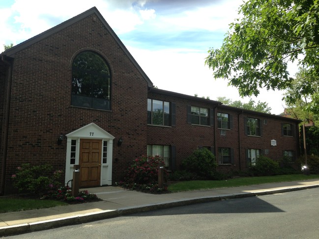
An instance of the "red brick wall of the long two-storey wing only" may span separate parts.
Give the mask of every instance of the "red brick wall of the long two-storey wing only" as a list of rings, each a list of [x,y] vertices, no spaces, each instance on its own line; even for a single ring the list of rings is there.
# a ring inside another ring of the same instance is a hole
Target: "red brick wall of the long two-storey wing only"
[[[220,172],[232,172],[234,170],[246,169],[246,149],[260,149],[264,153],[265,149],[269,154],[265,155],[271,159],[280,160],[283,157],[284,150],[291,150],[299,154],[298,133],[295,129],[295,135],[282,136],[281,124],[289,123],[295,126],[296,121],[289,118],[277,117],[258,112],[242,111],[227,106],[216,107],[216,102],[196,99],[195,97],[177,97],[174,94],[160,94],[158,92],[149,92],[148,98],[176,104],[176,126],[147,127],[147,144],[155,145],[174,145],[176,147],[177,168],[180,162],[187,158],[195,149],[202,146],[209,146],[218,155],[218,148],[232,148],[234,164],[219,165]],[[187,106],[199,106],[214,110],[215,125],[212,127],[190,125],[187,123]],[[221,135],[217,128],[217,112],[228,113],[232,115],[232,129],[226,130],[226,135]],[[262,136],[245,135],[244,117],[258,118],[262,124]],[[263,124],[266,120],[267,123]],[[215,135],[216,133],[216,135]],[[215,140],[216,139],[216,140]],[[271,146],[271,140],[277,141],[277,146]]]

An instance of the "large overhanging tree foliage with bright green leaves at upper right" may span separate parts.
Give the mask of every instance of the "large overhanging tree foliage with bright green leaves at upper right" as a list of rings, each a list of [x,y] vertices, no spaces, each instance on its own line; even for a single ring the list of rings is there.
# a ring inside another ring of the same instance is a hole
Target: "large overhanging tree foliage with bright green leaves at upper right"
[[[220,49],[210,49],[206,65],[215,78],[225,78],[241,96],[257,96],[260,88],[286,89],[293,79],[288,62],[306,69],[295,95],[311,96],[309,109],[319,112],[319,0],[248,0]]]

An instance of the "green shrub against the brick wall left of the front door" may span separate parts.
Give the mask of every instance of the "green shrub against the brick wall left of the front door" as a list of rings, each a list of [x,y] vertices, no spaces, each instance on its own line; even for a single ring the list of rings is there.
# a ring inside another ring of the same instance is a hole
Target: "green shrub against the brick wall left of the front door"
[[[52,166],[48,164],[30,165],[22,164],[17,167],[15,174],[11,176],[13,186],[19,192],[43,195],[52,188],[60,186],[58,179],[62,171],[52,173]]]

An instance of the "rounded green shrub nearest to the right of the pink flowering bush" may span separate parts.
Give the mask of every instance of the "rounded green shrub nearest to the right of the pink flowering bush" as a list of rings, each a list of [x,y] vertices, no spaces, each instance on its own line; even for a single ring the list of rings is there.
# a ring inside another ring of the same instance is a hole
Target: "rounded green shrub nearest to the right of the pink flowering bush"
[[[206,148],[195,150],[181,165],[187,172],[195,173],[198,179],[214,179],[216,176],[215,156]]]

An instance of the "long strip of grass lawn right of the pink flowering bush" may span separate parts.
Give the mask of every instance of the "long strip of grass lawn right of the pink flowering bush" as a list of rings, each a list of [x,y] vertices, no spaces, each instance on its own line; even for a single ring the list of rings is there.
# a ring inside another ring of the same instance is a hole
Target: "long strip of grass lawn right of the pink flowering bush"
[[[210,189],[219,187],[249,186],[267,183],[291,182],[298,180],[319,179],[319,175],[276,175],[266,177],[244,177],[221,181],[182,181],[168,186],[170,192]]]

